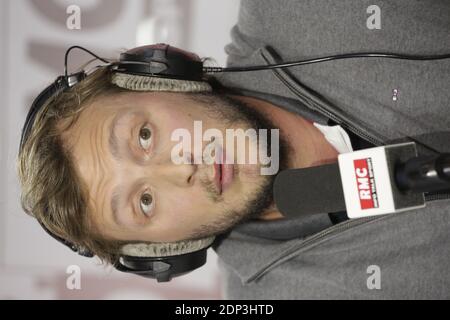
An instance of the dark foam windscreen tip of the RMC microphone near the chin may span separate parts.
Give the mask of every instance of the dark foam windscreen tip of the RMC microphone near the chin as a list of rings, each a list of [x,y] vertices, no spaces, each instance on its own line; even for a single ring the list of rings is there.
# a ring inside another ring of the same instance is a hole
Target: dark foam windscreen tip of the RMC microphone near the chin
[[[287,218],[346,209],[338,163],[283,170],[275,178],[273,195]]]

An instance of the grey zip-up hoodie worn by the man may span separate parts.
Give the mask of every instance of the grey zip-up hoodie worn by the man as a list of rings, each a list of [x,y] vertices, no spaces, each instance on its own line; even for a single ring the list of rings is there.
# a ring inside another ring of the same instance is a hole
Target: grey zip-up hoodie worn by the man
[[[381,29],[368,28],[373,4]],[[228,66],[450,53],[450,1],[248,0],[231,36]],[[348,59],[217,79],[320,124],[332,119],[375,145],[415,141],[419,154],[450,152],[450,60]],[[238,225],[214,247],[225,297],[450,298],[447,197],[336,225],[327,213]]]

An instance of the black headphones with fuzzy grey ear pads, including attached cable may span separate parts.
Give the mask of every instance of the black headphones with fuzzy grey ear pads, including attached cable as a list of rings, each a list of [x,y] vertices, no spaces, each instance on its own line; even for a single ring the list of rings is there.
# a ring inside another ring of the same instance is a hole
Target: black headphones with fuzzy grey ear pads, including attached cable
[[[103,59],[83,47],[72,46],[65,54],[64,75],[59,76],[51,85],[45,88],[31,105],[22,129],[20,151],[30,134],[36,115],[45,102],[60,92],[72,88],[87,77],[87,72],[84,70],[68,74],[67,59],[73,49],[83,50],[95,57],[95,59],[106,63],[106,66],[113,72],[112,82],[119,87],[133,91],[211,91],[212,88],[206,80],[207,74],[269,70],[339,59],[372,57],[405,60],[441,60],[450,58],[450,54],[424,56],[369,52],[325,56],[263,66],[221,68],[205,67],[203,66],[203,61],[196,54],[163,43],[128,50],[120,54],[120,59],[117,62]],[[53,234],[41,222],[39,223],[49,235],[69,247],[72,251],[85,257],[94,256],[87,248],[70,243]],[[173,277],[181,276],[203,266],[206,263],[207,249],[219,238],[211,236],[172,243],[126,244],[121,248],[119,261],[114,267],[122,272],[156,279],[158,282],[170,281]]]

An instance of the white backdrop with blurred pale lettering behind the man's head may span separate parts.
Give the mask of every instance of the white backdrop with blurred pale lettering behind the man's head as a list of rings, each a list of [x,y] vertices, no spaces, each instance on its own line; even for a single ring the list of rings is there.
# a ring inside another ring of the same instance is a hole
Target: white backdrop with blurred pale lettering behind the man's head
[[[69,5],[81,9],[81,29],[66,26]],[[0,299],[220,299],[217,256],[205,267],[158,284],[98,266],[58,244],[20,208],[15,159],[33,97],[63,72],[74,44],[106,57],[144,43],[167,42],[214,57],[237,21],[239,0],[2,0],[0,1]],[[74,54],[76,67],[88,59]],[[81,268],[81,290],[68,290],[66,268]]]

